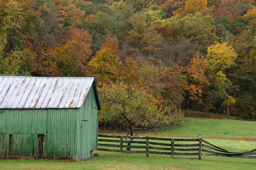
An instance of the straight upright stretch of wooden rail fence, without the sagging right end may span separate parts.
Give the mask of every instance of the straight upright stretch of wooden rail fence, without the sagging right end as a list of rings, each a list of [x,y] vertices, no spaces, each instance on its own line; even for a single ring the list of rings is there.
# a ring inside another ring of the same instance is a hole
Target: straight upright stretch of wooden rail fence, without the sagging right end
[[[179,142],[179,143],[175,143],[175,142]],[[194,143],[180,144],[184,142],[194,142]],[[110,147],[110,148],[106,148],[106,147]],[[125,148],[126,150],[124,150]],[[117,136],[117,135],[99,134],[98,150],[110,151],[110,152],[146,153],[147,156],[149,156],[149,154],[162,154],[162,155],[172,155],[172,156],[197,155],[200,158],[200,155],[199,155],[200,139],[179,139],[179,138],[176,139],[176,138],[156,138],[156,137],[148,137],[148,136]]]

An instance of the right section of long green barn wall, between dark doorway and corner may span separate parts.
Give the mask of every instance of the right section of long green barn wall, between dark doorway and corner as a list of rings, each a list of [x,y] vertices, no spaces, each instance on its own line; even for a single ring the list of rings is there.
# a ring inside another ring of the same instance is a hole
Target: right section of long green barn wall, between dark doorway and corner
[[[49,109],[45,152],[53,157],[76,157],[77,113],[80,109]]]

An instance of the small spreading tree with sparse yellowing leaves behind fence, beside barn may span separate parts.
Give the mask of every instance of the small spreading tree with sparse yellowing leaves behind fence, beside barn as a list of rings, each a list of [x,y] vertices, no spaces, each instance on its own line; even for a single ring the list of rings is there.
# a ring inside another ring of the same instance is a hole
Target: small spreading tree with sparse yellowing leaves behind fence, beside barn
[[[128,134],[138,129],[162,131],[173,127],[183,116],[170,106],[158,107],[159,101],[143,88],[123,82],[104,84],[99,89],[102,108],[99,121],[115,121],[126,126]]]

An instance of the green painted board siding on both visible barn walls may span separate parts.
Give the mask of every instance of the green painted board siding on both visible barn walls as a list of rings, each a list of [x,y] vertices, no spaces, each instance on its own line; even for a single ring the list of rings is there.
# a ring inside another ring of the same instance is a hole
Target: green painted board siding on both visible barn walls
[[[38,134],[44,134],[44,156],[85,159],[97,148],[97,130],[97,103],[91,86],[81,108],[1,109],[0,155],[9,155],[11,134],[11,155],[38,156]]]

